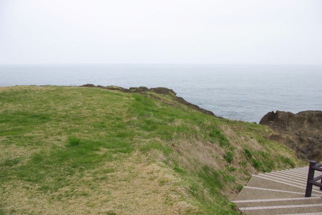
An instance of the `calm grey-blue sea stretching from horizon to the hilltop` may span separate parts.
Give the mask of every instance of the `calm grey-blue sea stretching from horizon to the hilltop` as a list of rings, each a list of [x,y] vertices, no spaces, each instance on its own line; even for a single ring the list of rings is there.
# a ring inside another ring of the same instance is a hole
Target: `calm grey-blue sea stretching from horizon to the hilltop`
[[[322,110],[322,66],[0,65],[0,86],[85,83],[168,87],[217,116],[249,122],[276,110]]]

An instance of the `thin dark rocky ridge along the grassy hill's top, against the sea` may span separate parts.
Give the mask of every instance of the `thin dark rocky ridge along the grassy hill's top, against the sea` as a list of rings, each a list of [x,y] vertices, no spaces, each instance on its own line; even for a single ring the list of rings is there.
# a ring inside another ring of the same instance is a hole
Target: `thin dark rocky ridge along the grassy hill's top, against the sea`
[[[192,104],[192,103],[186,101],[184,98],[176,96],[177,93],[175,91],[173,91],[172,89],[168,89],[166,87],[147,88],[145,86],[140,86],[140,87],[130,87],[129,89],[126,89],[126,88],[123,88],[123,87],[113,86],[113,85],[112,86],[101,86],[101,85],[95,86],[94,84],[90,84],[90,83],[84,84],[81,87],[98,87],[98,88],[104,88],[104,89],[110,89],[110,90],[119,90],[119,91],[122,91],[122,92],[138,92],[138,93],[144,93],[144,92],[152,91],[152,92],[155,92],[155,93],[158,93],[158,94],[172,95],[180,103],[186,104],[186,105],[192,107],[193,109],[196,109],[196,110],[198,110],[198,111],[200,111],[202,113],[217,117],[211,111],[202,109],[198,105]]]

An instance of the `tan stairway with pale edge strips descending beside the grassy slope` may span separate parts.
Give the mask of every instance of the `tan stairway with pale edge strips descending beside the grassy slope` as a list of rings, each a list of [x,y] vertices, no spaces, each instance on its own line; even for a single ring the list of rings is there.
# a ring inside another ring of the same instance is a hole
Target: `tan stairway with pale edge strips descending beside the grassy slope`
[[[308,167],[253,175],[233,201],[249,215],[322,215],[322,191],[313,186],[312,197],[305,196]],[[315,176],[321,172],[315,171]]]

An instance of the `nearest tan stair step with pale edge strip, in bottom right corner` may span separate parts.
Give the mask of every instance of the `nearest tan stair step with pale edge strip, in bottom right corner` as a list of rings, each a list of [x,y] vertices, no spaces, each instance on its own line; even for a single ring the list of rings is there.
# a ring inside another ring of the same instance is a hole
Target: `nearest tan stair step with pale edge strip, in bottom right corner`
[[[248,215],[270,215],[270,214],[289,214],[289,213],[312,213],[321,212],[322,204],[300,204],[300,205],[278,205],[260,207],[242,207],[241,212]]]

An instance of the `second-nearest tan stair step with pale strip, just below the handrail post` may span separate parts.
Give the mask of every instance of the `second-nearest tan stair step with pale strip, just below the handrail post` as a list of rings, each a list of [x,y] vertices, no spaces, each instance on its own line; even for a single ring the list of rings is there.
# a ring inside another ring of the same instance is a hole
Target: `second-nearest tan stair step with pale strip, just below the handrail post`
[[[273,198],[273,199],[252,199],[233,201],[238,207],[257,207],[257,206],[276,206],[276,205],[294,205],[294,204],[321,204],[322,198],[315,197],[297,197],[297,198]]]

